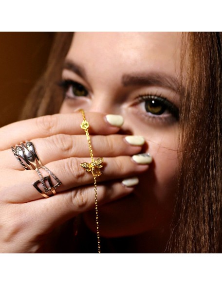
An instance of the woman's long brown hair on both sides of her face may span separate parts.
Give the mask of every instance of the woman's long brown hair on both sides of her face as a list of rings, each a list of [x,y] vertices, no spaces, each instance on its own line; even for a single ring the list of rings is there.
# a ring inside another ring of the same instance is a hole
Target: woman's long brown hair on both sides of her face
[[[56,82],[72,36],[57,33],[22,119],[59,111],[63,96]],[[167,249],[222,252],[222,33],[185,33],[183,43],[179,192]]]

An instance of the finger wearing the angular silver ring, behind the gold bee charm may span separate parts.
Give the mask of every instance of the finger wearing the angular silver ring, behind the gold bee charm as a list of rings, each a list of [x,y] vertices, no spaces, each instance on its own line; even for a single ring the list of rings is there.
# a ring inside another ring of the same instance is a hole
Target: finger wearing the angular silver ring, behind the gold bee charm
[[[56,189],[56,192],[66,190],[77,191],[77,187],[93,184],[91,173],[87,173],[80,163],[89,161],[89,158],[70,158],[48,163],[46,166],[61,180],[62,185]],[[116,158],[105,158],[102,176],[98,178],[98,183],[117,178],[126,178],[143,173],[148,169],[148,165],[140,165],[129,156]],[[44,169],[41,169],[42,176],[49,175]],[[32,183],[39,177],[35,170],[29,171],[7,171],[8,183],[1,190],[1,200],[10,203],[25,203],[42,198]],[[12,179],[13,177],[13,179]],[[56,181],[51,177],[52,183]],[[40,185],[41,186],[41,185]],[[39,188],[40,188],[39,186]],[[54,197],[50,197],[51,199]]]

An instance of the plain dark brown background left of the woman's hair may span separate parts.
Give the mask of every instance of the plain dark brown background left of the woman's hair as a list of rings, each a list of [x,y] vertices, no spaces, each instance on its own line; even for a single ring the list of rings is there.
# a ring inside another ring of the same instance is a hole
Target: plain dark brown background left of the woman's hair
[[[54,32],[0,32],[0,127],[18,120],[42,71]]]

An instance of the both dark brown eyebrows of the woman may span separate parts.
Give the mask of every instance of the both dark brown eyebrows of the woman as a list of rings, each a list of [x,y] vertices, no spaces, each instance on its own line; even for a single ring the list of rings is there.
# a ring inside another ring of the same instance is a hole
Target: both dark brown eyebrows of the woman
[[[64,62],[63,69],[73,71],[83,79],[87,80],[85,69],[69,59]],[[176,77],[160,72],[124,74],[121,78],[121,84],[124,87],[159,86],[167,89],[172,89],[180,94],[184,94],[185,92],[184,86],[180,84]]]

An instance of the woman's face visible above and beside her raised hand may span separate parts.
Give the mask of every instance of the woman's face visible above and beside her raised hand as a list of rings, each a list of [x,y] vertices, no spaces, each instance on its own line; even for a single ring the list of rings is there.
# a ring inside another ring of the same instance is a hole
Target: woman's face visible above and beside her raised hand
[[[74,34],[62,74],[71,86],[60,112],[81,107],[122,115],[121,133],[142,135],[147,142],[143,152],[153,157],[132,194],[99,207],[103,236],[133,235],[170,223],[177,175],[180,37],[179,33]],[[72,81],[80,86],[72,88]],[[85,220],[94,229],[94,212],[86,213]]]

